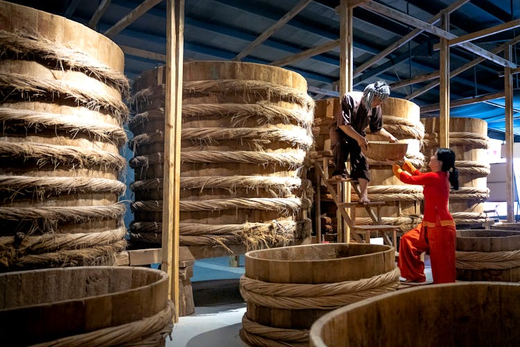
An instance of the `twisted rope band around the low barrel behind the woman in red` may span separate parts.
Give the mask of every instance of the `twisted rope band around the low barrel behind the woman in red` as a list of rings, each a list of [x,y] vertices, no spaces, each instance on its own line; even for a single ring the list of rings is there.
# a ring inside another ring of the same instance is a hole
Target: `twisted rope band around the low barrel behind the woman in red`
[[[456,269],[507,270],[520,266],[520,250],[496,252],[455,252]]]

